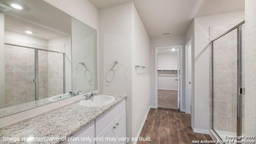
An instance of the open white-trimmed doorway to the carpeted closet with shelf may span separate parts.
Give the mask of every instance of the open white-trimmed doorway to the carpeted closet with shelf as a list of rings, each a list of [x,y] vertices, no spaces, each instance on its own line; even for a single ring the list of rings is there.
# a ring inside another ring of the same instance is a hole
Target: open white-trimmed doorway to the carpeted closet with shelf
[[[156,47],[156,107],[182,109],[182,46]]]

